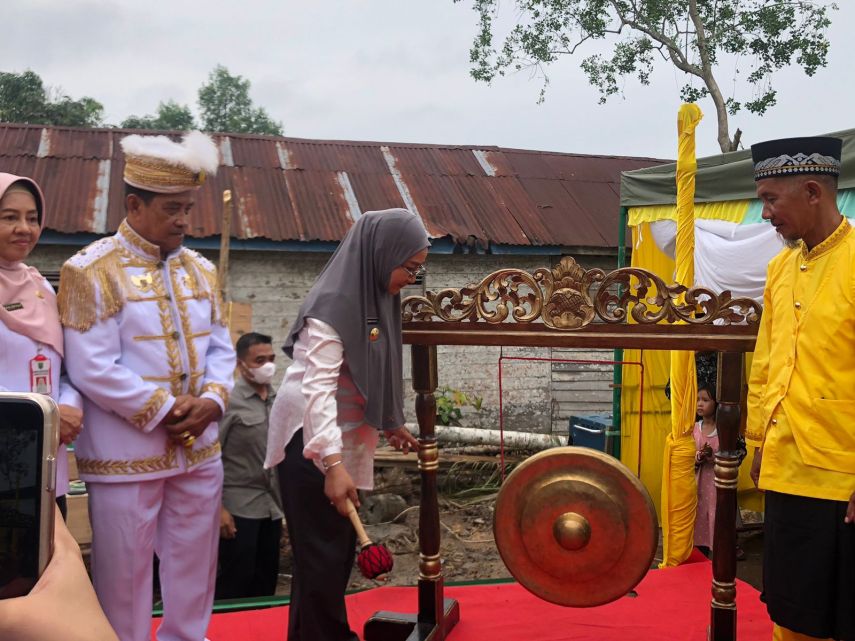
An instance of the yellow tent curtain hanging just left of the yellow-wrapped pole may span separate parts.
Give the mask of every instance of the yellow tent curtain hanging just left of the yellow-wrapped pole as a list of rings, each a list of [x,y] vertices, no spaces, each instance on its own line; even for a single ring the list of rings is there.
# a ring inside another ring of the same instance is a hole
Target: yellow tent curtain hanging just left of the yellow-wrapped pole
[[[666,283],[674,279],[674,261],[656,246],[647,223],[632,229],[632,266],[653,272]],[[655,296],[655,291],[649,293]],[[632,323],[632,317],[629,321]],[[628,362],[644,365],[642,394],[641,368],[624,365],[621,377],[621,461],[639,478],[661,515],[659,498],[662,490],[662,445],[671,433],[671,405],[665,396],[665,384],[670,373],[670,352],[660,350],[625,349]],[[643,413],[639,420],[639,408]],[[639,464],[639,453],[641,462]],[[660,516],[661,519],[661,516]]]

